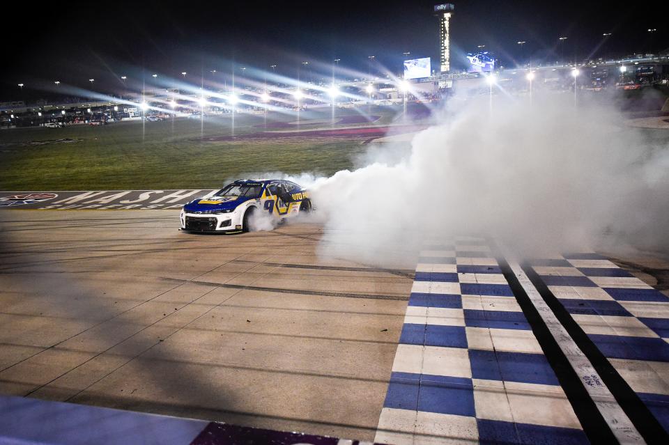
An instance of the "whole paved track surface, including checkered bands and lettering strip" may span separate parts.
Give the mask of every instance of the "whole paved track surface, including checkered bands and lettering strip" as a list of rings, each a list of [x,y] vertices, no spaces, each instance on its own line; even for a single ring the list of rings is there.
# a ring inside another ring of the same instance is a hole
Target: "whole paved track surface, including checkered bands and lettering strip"
[[[7,437],[31,439],[21,413],[52,409],[11,408],[26,398],[378,443],[669,437],[663,260],[518,263],[489,238],[440,235],[392,247],[414,266],[382,269],[323,251],[316,222],[181,232],[165,206],[207,191],[151,192],[4,201]],[[58,201],[68,210],[47,208]],[[139,207],[98,208],[121,201]]]

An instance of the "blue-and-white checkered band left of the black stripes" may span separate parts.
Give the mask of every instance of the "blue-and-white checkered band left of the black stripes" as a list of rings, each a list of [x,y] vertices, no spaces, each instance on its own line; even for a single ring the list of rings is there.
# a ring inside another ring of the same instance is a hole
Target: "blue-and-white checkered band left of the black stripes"
[[[421,252],[376,434],[398,445],[445,440],[588,443],[480,238]]]

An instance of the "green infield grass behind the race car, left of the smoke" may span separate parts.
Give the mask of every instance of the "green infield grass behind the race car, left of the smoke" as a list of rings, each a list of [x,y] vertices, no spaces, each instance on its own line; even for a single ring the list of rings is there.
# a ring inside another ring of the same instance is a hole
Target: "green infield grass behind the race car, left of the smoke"
[[[341,110],[344,115],[352,111]],[[374,112],[374,110],[373,110]],[[378,113],[376,113],[378,114]],[[329,116],[329,113],[328,113]],[[390,120],[385,113],[383,121]],[[323,118],[323,116],[309,116]],[[279,120],[279,116],[270,116]],[[282,120],[294,120],[285,117]],[[239,115],[235,134],[259,132],[262,116]],[[0,132],[0,190],[176,189],[217,187],[224,180],[281,171],[330,175],[350,168],[366,147],[357,141],[202,142],[231,134],[229,116],[156,123],[25,128]],[[309,125],[302,126],[309,128]],[[76,143],[15,145],[61,138]]]

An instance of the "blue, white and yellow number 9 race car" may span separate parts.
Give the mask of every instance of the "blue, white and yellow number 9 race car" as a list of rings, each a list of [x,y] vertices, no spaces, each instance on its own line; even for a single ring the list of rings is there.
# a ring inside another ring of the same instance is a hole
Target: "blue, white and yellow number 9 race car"
[[[279,179],[237,180],[214,194],[190,201],[180,214],[180,229],[191,232],[247,232],[264,212],[274,221],[311,212],[309,192]]]

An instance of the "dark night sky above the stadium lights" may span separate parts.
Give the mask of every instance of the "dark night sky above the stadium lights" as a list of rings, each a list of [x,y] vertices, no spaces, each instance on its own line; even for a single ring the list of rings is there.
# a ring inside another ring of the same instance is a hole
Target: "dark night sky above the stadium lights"
[[[0,101],[44,93],[31,87],[62,84],[116,91],[118,77],[200,77],[210,70],[255,67],[294,77],[301,61],[310,75],[341,68],[367,72],[367,56],[392,72],[403,52],[432,56],[438,65],[438,1],[97,1],[29,3],[3,19],[5,38]],[[502,65],[536,61],[658,52],[669,47],[663,2],[454,1],[452,58],[486,45]],[[599,3],[599,5],[597,4]],[[40,6],[41,5],[41,6]],[[643,6],[642,6],[643,5]],[[663,29],[664,26],[664,29]],[[655,33],[647,29],[656,28]],[[602,33],[613,33],[602,45]],[[557,38],[567,36],[564,48]],[[521,53],[518,40],[527,43]],[[318,62],[323,63],[318,68]],[[314,72],[316,71],[316,72]],[[20,92],[18,83],[26,84]]]

